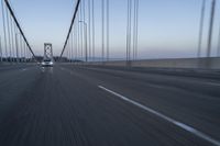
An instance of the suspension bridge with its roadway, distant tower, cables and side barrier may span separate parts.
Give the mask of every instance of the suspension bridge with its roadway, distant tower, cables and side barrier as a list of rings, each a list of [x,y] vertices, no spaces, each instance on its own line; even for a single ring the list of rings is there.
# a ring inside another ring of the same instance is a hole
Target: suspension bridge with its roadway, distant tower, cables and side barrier
[[[110,0],[76,0],[63,48],[44,42],[42,57],[1,0],[1,146],[220,146],[219,1],[198,0],[193,57],[160,59],[141,57],[142,2],[123,3],[124,57],[112,55]]]

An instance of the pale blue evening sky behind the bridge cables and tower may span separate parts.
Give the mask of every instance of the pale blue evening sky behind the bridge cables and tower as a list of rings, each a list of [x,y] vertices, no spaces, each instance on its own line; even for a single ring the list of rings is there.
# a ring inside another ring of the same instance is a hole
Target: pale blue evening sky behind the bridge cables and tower
[[[97,57],[101,55],[100,1],[95,0]],[[54,55],[59,55],[70,25],[75,0],[10,0],[10,2],[34,53],[43,55],[44,43],[52,43]],[[125,57],[127,2],[128,0],[110,0],[111,58]],[[195,57],[201,2],[202,0],[140,0],[139,58]],[[207,0],[202,56],[207,47],[210,3],[211,0]],[[219,0],[216,10],[212,56],[217,52],[220,27]],[[0,35],[3,35],[2,24],[0,26]]]

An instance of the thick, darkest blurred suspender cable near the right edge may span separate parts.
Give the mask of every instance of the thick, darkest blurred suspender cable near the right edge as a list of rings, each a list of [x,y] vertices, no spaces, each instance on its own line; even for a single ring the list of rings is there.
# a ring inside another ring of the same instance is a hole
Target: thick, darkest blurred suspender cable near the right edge
[[[212,0],[211,15],[210,15],[210,25],[209,25],[209,36],[208,36],[208,47],[207,47],[207,57],[211,56],[211,43],[212,43],[212,31],[213,31],[215,11],[216,11],[216,0]]]

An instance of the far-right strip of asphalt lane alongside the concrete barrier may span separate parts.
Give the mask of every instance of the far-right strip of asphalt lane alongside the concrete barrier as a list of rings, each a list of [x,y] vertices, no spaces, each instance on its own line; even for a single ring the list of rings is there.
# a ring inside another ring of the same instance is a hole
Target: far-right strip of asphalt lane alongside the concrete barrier
[[[219,85],[220,79],[219,72],[213,71],[215,74],[210,74],[212,71],[209,71],[209,74],[200,74],[200,72],[187,72],[188,75],[185,76],[185,71],[183,72],[170,72],[163,69],[163,71],[147,71],[147,70],[140,70],[140,69],[130,69],[130,68],[113,68],[113,67],[96,67],[96,66],[78,66],[78,68],[87,69],[91,71],[98,71],[101,74],[109,74],[114,75],[117,77],[121,78],[128,78],[131,79],[142,79],[150,82],[151,85],[161,85],[164,87],[176,87],[177,89],[186,90],[186,91],[193,91],[201,94],[208,94],[213,97],[220,97],[219,93]],[[153,71],[153,72],[152,72]],[[146,76],[147,75],[147,76]],[[200,90],[202,88],[202,90]]]

